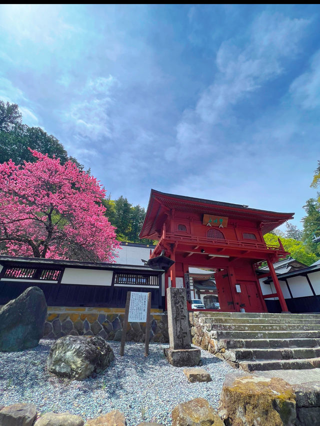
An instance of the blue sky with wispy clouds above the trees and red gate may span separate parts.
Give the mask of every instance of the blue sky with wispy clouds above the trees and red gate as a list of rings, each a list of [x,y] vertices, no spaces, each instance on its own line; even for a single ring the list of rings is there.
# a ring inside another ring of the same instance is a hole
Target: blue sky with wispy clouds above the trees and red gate
[[[0,99],[112,198],[295,212],[320,160],[318,5],[0,5]]]

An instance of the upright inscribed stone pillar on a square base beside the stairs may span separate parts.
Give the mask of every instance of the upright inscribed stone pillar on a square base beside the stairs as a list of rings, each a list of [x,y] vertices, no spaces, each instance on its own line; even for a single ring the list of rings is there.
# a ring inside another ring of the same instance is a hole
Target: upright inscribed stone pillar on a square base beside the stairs
[[[196,366],[200,362],[200,349],[191,348],[185,289],[168,288],[166,298],[170,347],[164,349],[164,355],[174,367]]]

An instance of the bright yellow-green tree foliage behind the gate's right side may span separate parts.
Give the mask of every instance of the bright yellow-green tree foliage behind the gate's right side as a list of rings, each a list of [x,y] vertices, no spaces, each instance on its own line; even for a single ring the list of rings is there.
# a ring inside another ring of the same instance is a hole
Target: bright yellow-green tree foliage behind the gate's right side
[[[298,262],[309,266],[317,260],[317,256],[312,253],[302,241],[297,241],[294,238],[278,237],[277,235],[270,233],[264,235],[265,243],[270,245],[278,245],[278,238],[280,239],[284,250],[289,252],[290,256]]]

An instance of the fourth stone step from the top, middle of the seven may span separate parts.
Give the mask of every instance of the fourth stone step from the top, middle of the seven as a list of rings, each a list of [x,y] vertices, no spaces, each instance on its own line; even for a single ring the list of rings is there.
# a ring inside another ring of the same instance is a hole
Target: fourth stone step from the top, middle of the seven
[[[320,331],[237,331],[237,330],[213,330],[211,339],[319,339]]]

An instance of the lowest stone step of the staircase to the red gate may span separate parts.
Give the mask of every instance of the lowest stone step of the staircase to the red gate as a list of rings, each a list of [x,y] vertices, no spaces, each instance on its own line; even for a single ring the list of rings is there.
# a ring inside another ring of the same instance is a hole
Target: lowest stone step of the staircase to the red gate
[[[320,358],[306,360],[278,360],[278,361],[241,361],[239,367],[244,371],[267,370],[307,370],[320,367]]]

